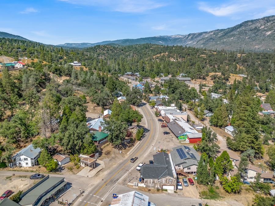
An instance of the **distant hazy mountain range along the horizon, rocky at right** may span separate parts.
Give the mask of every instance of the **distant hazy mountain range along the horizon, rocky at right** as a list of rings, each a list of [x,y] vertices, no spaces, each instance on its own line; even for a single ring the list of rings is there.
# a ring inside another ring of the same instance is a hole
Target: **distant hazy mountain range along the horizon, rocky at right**
[[[0,37],[26,38],[0,32]],[[275,16],[267,16],[256,20],[248,20],[227,29],[216,29],[185,35],[155,36],[137,39],[119,39],[97,43],[65,43],[57,46],[85,48],[95,45],[133,45],[133,44],[183,45],[207,49],[227,50],[273,50],[275,49]]]

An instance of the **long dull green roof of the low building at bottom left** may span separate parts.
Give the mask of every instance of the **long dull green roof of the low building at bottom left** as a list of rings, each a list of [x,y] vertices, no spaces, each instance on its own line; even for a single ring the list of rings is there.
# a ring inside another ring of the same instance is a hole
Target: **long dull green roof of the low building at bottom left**
[[[60,182],[64,177],[50,177],[46,179],[43,183],[33,188],[27,194],[25,194],[21,201],[19,202],[20,205],[34,205],[35,201],[39,199],[39,196],[45,192],[49,192],[53,186],[55,186],[58,182]],[[40,180],[42,181],[42,180]],[[47,194],[46,193],[46,194]],[[44,195],[43,195],[44,197]],[[40,197],[41,198],[41,197]]]

